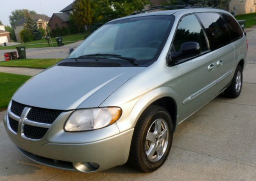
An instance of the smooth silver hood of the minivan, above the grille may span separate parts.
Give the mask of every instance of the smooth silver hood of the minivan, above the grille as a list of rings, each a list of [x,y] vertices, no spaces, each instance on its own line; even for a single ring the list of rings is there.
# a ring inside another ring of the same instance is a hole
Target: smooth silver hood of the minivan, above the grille
[[[12,99],[56,110],[98,107],[143,69],[145,67],[53,66],[22,85]]]

